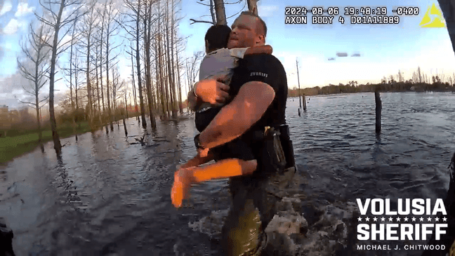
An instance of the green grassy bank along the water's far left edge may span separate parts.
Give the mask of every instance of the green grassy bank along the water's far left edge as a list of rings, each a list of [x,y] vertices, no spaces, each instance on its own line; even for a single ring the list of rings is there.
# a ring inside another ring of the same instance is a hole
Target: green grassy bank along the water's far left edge
[[[87,133],[90,127],[87,122],[81,122],[76,128],[76,134]],[[58,128],[60,139],[74,135],[73,128],[70,125],[62,125]],[[52,140],[52,131],[43,131],[43,142]],[[27,133],[14,137],[0,137],[0,163],[6,163],[16,156],[34,150],[39,146],[38,133]]]

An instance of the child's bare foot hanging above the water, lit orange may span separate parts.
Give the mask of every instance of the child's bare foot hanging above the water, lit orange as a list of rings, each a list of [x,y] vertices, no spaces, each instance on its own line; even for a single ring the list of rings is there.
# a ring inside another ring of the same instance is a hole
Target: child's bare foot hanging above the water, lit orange
[[[189,196],[192,175],[190,168],[179,169],[174,173],[174,183],[171,189],[172,203],[176,208],[182,206],[183,199]]]

